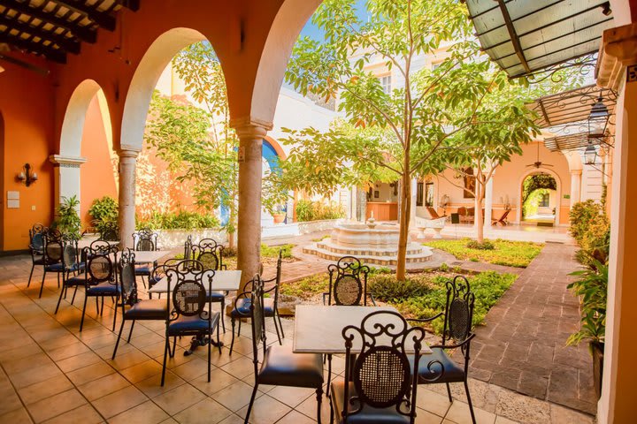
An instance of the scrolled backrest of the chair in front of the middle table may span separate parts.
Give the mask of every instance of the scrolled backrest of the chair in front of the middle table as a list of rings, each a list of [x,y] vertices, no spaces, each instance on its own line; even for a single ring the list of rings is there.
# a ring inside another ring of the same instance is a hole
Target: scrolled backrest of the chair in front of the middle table
[[[189,269],[181,267],[180,263],[166,270],[168,291],[173,293],[172,296],[166,296],[169,310],[171,310],[171,300],[173,303],[170,321],[176,320],[180,315],[198,315],[200,318],[205,318],[203,312],[206,303],[209,303],[211,307],[211,299],[208,299],[206,293],[211,291],[213,276],[214,270]]]

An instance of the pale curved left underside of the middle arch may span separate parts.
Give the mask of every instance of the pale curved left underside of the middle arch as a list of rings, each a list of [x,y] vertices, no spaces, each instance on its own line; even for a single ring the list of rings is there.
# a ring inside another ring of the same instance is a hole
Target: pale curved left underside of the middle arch
[[[206,40],[206,37],[195,29],[173,28],[159,35],[146,50],[135,69],[124,103],[119,143],[122,150],[142,150],[150,98],[161,73],[181,49],[203,40]]]

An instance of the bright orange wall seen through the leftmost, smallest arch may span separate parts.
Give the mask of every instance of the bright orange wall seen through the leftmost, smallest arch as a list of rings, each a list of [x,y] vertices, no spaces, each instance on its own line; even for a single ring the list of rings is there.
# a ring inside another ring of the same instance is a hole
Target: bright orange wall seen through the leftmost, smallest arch
[[[111,162],[111,148],[106,139],[106,128],[97,96],[90,102],[84,121],[81,156],[87,162],[80,167],[80,215],[82,224],[90,225],[88,208],[93,201],[105,195],[118,198],[117,182]]]

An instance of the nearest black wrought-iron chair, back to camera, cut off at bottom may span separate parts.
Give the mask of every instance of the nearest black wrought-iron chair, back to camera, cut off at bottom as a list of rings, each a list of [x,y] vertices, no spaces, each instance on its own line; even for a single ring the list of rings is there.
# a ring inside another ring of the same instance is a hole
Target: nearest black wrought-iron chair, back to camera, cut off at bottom
[[[345,327],[342,336],[345,374],[332,382],[330,422],[413,423],[418,369],[411,369],[409,358],[420,360],[425,330],[410,327],[401,314],[379,311]]]

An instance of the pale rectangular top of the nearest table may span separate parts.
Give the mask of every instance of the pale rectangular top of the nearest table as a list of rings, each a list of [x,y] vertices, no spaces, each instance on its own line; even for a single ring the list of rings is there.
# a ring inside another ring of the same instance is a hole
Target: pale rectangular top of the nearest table
[[[348,325],[360,325],[365,316],[377,311],[397,312],[395,307],[299,305],[295,312],[293,350],[295,353],[345,353],[342,329]],[[408,348],[405,351],[411,353],[413,349]],[[354,339],[352,352],[360,352],[360,337]],[[420,354],[431,352],[431,349],[423,342]]]

